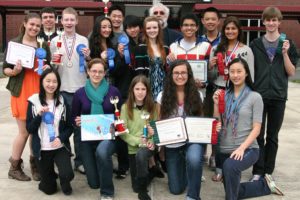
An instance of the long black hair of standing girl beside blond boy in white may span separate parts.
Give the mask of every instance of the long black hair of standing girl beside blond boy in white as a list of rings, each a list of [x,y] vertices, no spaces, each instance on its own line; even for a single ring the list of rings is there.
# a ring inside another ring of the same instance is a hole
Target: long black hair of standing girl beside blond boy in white
[[[111,25],[111,29],[112,29],[112,22],[108,17],[99,16],[96,18],[91,37],[89,39],[89,45],[90,45],[90,49],[91,49],[91,58],[99,58],[101,52],[106,50],[106,49],[103,49],[103,47],[102,47],[101,40],[103,39],[103,36],[100,33],[101,23],[104,20],[109,21],[109,23]],[[109,48],[112,47],[111,40],[112,40],[113,36],[114,36],[113,30],[111,30],[111,34],[109,35],[109,38],[106,38],[106,46]]]

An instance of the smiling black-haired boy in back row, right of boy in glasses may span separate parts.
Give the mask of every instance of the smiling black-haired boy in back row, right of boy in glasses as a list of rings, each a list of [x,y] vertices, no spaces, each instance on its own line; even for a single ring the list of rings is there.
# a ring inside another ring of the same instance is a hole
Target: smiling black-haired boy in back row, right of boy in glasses
[[[221,42],[221,33],[218,30],[220,24],[221,14],[218,9],[215,7],[208,7],[202,13],[201,22],[206,30],[205,34],[201,35],[199,40],[200,42],[208,42],[212,46],[211,54],[214,54],[214,50],[217,48],[218,44]],[[213,83],[215,74],[214,71],[209,71],[208,73],[208,85],[206,87],[206,97],[204,99],[204,115],[207,117],[213,116],[213,100],[212,96],[215,91],[216,86]],[[213,145],[211,148],[211,156],[209,158],[209,166],[214,169],[216,167],[215,161],[216,146]],[[206,152],[204,154],[205,160],[207,160]],[[220,170],[219,170],[220,171]],[[216,175],[213,176],[214,181],[220,179],[220,173],[216,172]]]

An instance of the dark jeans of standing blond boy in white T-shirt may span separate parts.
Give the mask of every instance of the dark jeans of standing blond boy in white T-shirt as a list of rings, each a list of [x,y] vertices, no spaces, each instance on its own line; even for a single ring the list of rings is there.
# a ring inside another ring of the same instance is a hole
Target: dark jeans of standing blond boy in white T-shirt
[[[74,93],[69,93],[69,92],[61,92],[61,95],[64,97],[64,99],[66,100],[66,104],[69,106],[70,110],[72,110],[72,101],[73,101],[73,96]],[[77,168],[78,166],[82,165],[82,161],[80,158],[80,133],[78,134],[78,129],[74,128],[74,136],[73,136],[73,142],[74,142],[74,151],[75,151],[75,158],[74,158],[74,164],[75,164],[75,168]],[[70,142],[68,141],[68,143],[66,144],[67,148],[70,149],[71,151],[71,147],[70,147]]]

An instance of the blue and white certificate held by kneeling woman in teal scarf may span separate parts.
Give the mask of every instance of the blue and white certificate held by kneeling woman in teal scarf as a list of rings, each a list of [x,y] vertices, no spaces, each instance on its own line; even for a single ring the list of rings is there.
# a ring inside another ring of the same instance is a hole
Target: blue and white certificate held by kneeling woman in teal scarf
[[[114,139],[114,115],[81,115],[81,141]]]

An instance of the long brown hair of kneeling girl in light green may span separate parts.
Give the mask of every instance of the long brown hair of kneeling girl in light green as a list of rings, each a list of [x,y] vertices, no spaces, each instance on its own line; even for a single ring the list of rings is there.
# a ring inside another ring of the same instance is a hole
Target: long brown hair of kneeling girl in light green
[[[133,107],[135,104],[135,96],[134,96],[133,89],[134,89],[134,86],[138,83],[142,83],[146,87],[147,94],[144,99],[143,108],[150,114],[150,119],[153,119],[154,113],[156,110],[155,109],[156,105],[153,101],[149,80],[144,75],[138,75],[138,76],[134,77],[134,79],[130,83],[130,86],[128,89],[128,99],[126,101],[128,118],[130,120],[133,119]]]

